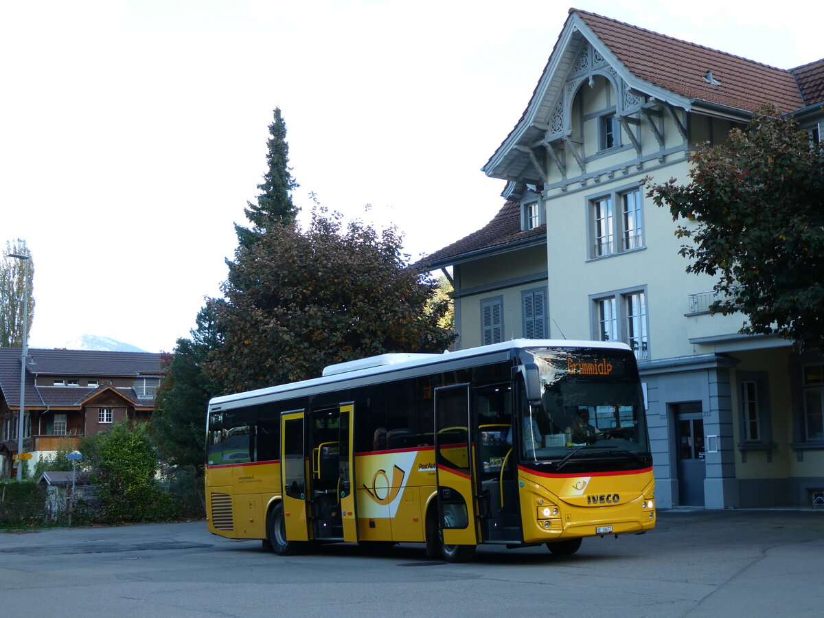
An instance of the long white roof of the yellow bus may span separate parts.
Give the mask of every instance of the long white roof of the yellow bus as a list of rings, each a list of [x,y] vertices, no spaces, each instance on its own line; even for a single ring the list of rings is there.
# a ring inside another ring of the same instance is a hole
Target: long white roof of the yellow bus
[[[478,348],[444,352],[441,354],[381,354],[368,358],[361,358],[349,363],[338,363],[324,369],[321,377],[314,377],[301,382],[291,382],[278,386],[265,386],[255,391],[245,391],[232,395],[222,395],[209,400],[209,409],[213,406],[230,404],[237,400],[248,400],[260,396],[273,396],[290,391],[299,391],[304,388],[334,384],[358,377],[376,376],[382,373],[396,372],[402,369],[425,367],[437,363],[472,358],[488,354],[502,353],[513,349],[528,348],[602,348],[629,350],[630,346],[612,341],[583,341],[570,339],[510,339],[498,344],[483,345]],[[233,406],[230,406],[233,407]]]

